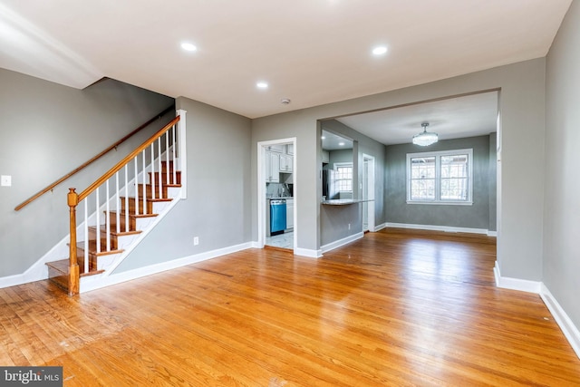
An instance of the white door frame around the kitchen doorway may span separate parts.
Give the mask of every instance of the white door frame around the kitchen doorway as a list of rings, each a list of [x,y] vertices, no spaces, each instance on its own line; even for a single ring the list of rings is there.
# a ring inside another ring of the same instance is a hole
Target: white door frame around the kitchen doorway
[[[258,141],[257,143],[257,248],[264,248],[266,245],[266,148],[272,145],[292,144],[294,147],[294,156],[292,158],[292,174],[294,175],[293,197],[294,197],[294,242],[293,250],[297,247],[298,223],[298,190],[297,177],[298,169],[296,168],[296,138],[291,137],[279,140]]]

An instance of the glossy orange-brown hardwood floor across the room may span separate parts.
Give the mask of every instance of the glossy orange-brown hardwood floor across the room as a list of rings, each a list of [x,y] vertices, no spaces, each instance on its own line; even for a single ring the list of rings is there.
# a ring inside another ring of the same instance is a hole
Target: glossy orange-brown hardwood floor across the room
[[[0,289],[0,365],[65,386],[572,386],[538,295],[494,285],[495,239],[401,229],[321,259],[249,249],[68,297]]]

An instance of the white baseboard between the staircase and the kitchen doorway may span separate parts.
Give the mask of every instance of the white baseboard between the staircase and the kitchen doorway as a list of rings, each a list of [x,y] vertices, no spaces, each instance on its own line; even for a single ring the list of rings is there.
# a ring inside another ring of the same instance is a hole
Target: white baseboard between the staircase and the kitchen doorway
[[[151,266],[139,267],[126,272],[113,272],[109,276],[87,276],[82,278],[80,293],[90,292],[92,290],[101,289],[102,287],[110,285],[121,284],[122,282],[131,281],[132,279],[141,278],[143,276],[151,276],[167,270],[206,261],[218,256],[225,256],[227,254],[236,253],[237,251],[246,250],[247,248],[251,247],[252,242],[247,242],[237,246],[218,248],[217,250],[211,250],[193,256],[185,256]]]

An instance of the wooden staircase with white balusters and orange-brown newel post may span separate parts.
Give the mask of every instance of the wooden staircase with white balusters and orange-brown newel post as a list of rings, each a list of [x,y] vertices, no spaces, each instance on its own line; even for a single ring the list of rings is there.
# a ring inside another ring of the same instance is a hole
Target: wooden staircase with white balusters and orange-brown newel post
[[[185,197],[178,170],[185,169],[185,122],[179,120],[169,122],[81,194],[70,189],[69,256],[45,264],[53,284],[75,295],[88,277],[111,274],[170,203]],[[77,207],[83,212],[80,222]]]

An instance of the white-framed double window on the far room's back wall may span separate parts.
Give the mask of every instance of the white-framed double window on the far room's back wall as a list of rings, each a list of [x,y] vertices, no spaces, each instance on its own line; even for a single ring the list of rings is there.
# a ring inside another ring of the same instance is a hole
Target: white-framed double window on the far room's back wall
[[[472,204],[473,150],[407,154],[407,203]]]

